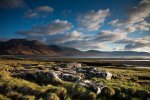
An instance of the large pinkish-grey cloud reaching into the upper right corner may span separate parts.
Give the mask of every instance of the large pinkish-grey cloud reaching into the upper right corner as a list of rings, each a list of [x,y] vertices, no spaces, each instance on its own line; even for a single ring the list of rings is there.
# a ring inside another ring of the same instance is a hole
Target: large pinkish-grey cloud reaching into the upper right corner
[[[128,10],[127,18],[115,19],[109,24],[117,28],[123,28],[126,32],[149,31],[150,23],[146,20],[150,17],[150,1],[141,0],[137,7]]]

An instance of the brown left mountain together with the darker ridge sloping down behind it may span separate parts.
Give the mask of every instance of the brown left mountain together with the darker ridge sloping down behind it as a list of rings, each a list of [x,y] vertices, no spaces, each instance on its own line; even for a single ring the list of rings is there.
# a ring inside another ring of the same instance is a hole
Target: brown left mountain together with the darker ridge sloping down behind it
[[[80,50],[57,45],[46,45],[37,40],[11,39],[0,42],[0,55],[47,55],[74,56],[82,54]]]

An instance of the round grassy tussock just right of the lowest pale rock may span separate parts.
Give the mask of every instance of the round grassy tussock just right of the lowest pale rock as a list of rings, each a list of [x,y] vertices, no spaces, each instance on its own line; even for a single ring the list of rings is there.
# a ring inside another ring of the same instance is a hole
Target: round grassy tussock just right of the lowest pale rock
[[[102,95],[112,97],[115,94],[115,91],[111,87],[104,87],[101,91]]]

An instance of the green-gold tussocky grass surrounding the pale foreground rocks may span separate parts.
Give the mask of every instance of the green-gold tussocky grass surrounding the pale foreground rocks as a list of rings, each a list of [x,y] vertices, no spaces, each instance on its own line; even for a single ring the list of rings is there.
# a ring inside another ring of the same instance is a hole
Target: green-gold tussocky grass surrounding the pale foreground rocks
[[[0,100],[148,100],[150,99],[150,70],[125,67],[103,67],[115,76],[111,80],[91,77],[106,87],[99,95],[96,92],[74,82],[48,79],[39,75],[39,80],[15,77],[11,70],[26,69],[23,64],[37,64],[30,71],[40,69],[48,71],[55,62],[0,59]]]

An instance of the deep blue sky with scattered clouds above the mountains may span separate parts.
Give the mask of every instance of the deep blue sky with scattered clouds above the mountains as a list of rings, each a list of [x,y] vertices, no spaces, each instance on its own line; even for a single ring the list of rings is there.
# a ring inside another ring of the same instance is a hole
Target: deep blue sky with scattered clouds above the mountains
[[[0,0],[0,41],[150,52],[150,0]]]

